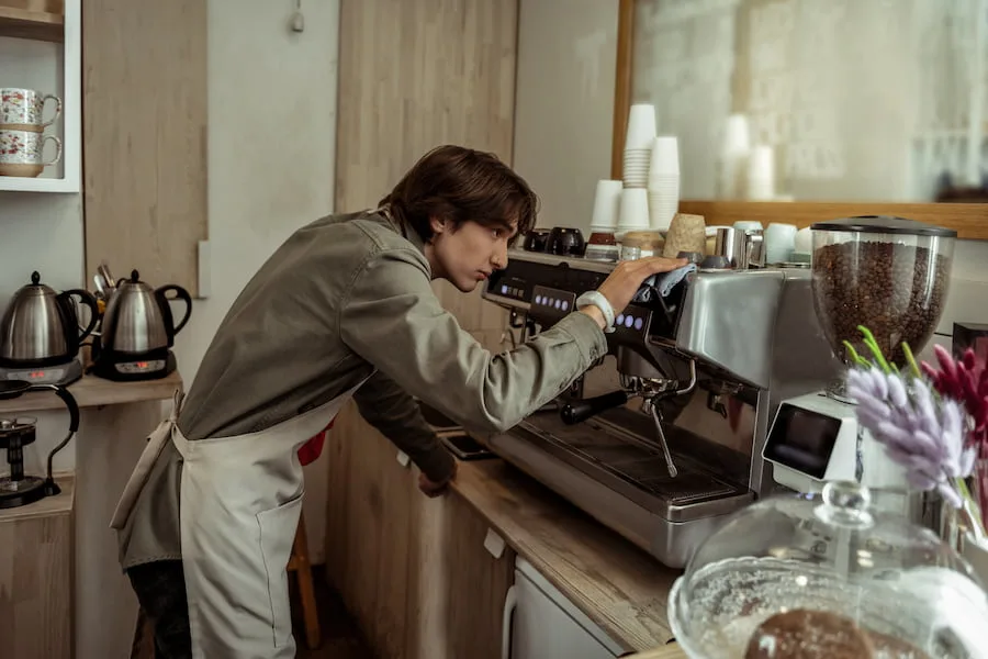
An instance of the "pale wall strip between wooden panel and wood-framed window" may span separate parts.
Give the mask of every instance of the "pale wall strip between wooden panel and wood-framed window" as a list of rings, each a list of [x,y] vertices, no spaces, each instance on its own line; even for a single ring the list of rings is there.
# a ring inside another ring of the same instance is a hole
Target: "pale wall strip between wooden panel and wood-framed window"
[[[515,169],[539,194],[539,226],[590,228],[610,178],[617,2],[520,0]]]

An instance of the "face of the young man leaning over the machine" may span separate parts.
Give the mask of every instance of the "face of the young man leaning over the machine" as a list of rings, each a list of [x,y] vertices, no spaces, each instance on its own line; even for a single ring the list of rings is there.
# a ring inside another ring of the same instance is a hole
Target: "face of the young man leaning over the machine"
[[[434,217],[433,239],[426,245],[426,258],[433,277],[448,280],[469,293],[494,270],[507,266],[507,248],[517,228],[484,226],[464,222],[459,227]]]

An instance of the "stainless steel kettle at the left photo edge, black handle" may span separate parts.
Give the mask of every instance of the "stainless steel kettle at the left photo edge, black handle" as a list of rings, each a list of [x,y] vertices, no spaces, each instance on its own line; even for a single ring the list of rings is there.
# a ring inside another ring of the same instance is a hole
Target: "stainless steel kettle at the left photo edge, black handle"
[[[89,308],[89,324],[79,326],[72,298]],[[100,313],[89,291],[70,289],[61,293],[41,283],[31,273],[31,283],[14,293],[0,321],[0,364],[8,367],[45,367],[70,361],[80,342],[92,333]]]

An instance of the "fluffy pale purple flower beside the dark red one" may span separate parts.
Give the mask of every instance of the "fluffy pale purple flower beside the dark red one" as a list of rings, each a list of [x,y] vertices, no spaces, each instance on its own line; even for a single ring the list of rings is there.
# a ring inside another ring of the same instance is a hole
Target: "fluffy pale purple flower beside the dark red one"
[[[964,447],[967,417],[959,404],[935,396],[924,379],[877,368],[852,368],[846,386],[858,423],[906,469],[910,487],[936,490],[961,506],[954,482],[972,473],[976,451]]]

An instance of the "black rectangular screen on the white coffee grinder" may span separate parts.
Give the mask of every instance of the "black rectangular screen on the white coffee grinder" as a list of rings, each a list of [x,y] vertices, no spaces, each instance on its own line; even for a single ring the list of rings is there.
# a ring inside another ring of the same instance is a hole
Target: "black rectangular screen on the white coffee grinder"
[[[783,403],[765,443],[764,456],[822,480],[840,429],[840,418]]]

